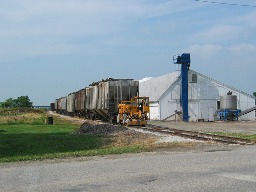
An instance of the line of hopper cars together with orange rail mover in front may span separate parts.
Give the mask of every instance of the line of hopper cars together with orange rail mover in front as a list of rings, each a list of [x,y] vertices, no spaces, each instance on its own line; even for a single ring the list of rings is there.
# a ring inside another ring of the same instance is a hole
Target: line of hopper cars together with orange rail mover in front
[[[63,115],[127,125],[145,125],[149,120],[149,98],[139,97],[138,81],[107,78],[89,86],[56,99],[54,110]]]

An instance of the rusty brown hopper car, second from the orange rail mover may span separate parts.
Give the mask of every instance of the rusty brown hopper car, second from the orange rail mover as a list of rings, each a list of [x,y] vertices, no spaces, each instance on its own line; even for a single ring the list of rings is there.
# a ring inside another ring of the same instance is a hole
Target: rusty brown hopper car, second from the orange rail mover
[[[86,88],[75,92],[75,115],[87,117],[86,113],[86,100],[85,100]],[[88,118],[88,117],[87,117]]]

